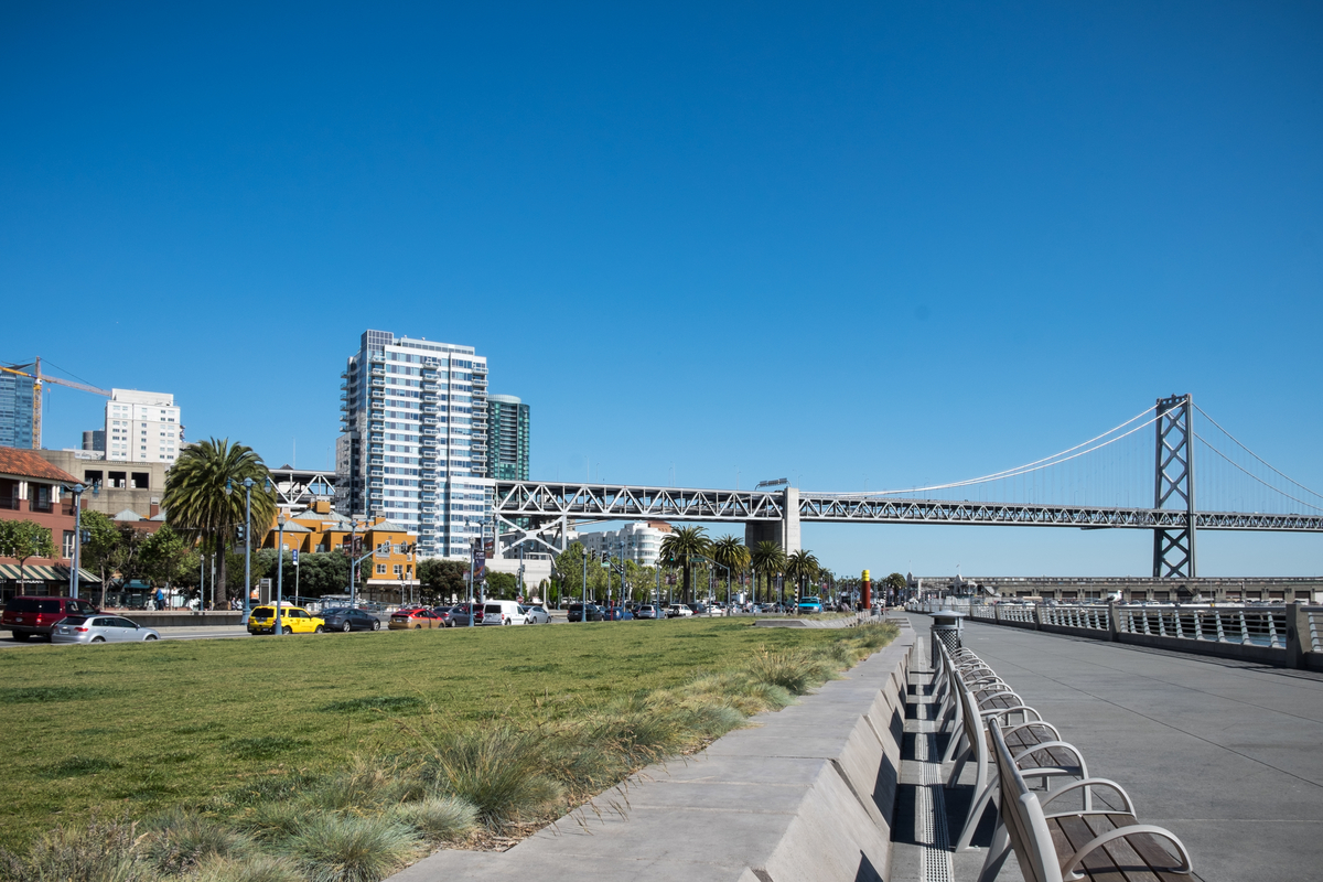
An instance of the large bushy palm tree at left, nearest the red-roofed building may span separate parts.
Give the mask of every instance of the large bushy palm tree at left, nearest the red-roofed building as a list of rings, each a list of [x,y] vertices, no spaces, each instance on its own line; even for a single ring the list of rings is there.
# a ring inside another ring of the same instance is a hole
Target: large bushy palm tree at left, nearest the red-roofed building
[[[243,493],[226,493],[226,481],[239,484],[251,477],[251,526],[258,537],[266,534],[275,521],[275,493],[266,489],[266,464],[251,447],[230,444],[230,439],[216,438],[189,444],[165,476],[161,505],[165,522],[191,542],[198,542],[204,553],[224,551],[234,537],[234,528],[243,524]],[[225,554],[221,554],[220,583],[225,582]],[[214,586],[213,586],[214,595]],[[247,590],[247,588],[245,588]],[[216,596],[224,600],[224,591]]]

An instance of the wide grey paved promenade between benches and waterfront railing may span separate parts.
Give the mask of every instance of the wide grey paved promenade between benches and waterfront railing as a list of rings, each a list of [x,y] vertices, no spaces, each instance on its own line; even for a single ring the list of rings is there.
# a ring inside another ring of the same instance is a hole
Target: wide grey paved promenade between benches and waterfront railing
[[[1323,674],[979,623],[964,644],[1208,882],[1323,878]]]

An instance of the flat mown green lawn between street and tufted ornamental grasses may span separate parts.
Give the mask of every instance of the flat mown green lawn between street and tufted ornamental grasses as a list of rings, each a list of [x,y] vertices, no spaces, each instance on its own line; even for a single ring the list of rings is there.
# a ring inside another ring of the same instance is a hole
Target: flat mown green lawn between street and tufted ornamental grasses
[[[0,845],[407,750],[421,729],[591,714],[851,631],[691,619],[0,652]]]

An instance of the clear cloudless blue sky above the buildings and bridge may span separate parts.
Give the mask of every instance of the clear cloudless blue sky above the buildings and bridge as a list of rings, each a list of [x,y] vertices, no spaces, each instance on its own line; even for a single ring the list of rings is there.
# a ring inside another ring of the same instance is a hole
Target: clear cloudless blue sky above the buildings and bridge
[[[822,4],[818,4],[822,7]],[[365,328],[470,344],[534,477],[877,489],[1189,391],[1320,488],[1323,8],[0,7],[0,360],[329,463]],[[48,447],[98,426],[57,389]],[[839,573],[1147,533],[806,526]],[[1203,574],[1316,574],[1203,534]]]

